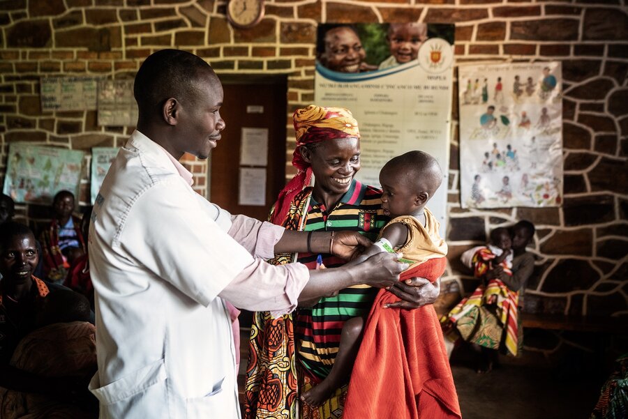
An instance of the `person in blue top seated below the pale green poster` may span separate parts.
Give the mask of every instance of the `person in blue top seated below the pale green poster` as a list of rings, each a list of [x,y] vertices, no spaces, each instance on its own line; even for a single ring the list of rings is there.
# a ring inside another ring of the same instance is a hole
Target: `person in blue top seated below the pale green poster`
[[[72,215],[74,208],[72,192],[57,192],[52,201],[50,226],[40,234],[44,271],[46,279],[51,282],[65,280],[72,261],[84,254],[85,241],[80,229],[80,218]]]

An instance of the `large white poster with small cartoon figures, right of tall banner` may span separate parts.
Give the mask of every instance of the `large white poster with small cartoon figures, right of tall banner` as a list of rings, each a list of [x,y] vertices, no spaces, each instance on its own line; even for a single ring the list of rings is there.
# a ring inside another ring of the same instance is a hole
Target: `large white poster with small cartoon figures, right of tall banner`
[[[460,66],[463,208],[562,203],[560,62]]]

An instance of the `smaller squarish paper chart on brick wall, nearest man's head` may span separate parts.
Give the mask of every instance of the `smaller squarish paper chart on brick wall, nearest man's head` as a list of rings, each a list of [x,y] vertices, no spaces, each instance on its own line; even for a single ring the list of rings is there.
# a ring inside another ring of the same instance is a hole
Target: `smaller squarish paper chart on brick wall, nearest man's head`
[[[135,126],[137,103],[133,80],[100,80],[98,83],[98,125]]]

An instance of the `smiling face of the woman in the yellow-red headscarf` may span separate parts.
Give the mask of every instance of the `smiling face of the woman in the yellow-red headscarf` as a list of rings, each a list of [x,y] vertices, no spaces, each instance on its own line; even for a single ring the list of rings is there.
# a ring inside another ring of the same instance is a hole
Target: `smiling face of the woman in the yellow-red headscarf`
[[[360,140],[357,137],[331,139],[304,146],[301,155],[312,167],[315,195],[320,199],[321,195],[340,199],[360,169]]]

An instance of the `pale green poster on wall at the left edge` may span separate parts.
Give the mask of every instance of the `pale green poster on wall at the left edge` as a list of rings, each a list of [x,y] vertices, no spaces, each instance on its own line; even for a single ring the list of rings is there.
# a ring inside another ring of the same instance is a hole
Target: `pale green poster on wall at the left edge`
[[[52,204],[60,190],[78,196],[83,151],[13,143],[9,146],[3,192],[15,202]]]

